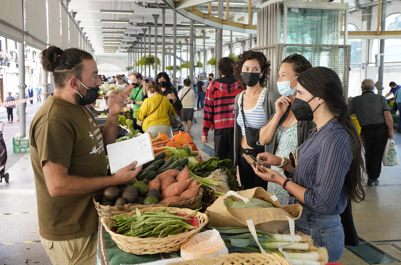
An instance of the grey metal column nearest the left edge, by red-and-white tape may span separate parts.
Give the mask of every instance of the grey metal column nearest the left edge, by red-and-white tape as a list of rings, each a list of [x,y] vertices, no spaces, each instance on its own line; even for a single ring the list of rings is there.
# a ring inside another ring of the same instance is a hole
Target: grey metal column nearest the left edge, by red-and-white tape
[[[25,47],[24,43],[18,42],[18,77],[20,82],[18,84],[19,93],[18,99],[25,98]],[[22,137],[26,136],[26,124],[25,124],[25,104],[22,103],[19,106],[20,112],[20,133],[22,133]]]

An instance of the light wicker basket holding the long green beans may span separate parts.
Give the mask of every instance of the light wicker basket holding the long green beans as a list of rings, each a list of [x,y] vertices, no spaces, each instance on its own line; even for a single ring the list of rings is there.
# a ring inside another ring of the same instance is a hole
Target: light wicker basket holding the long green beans
[[[164,209],[165,207],[146,207],[140,209],[140,212],[155,212],[159,209]],[[180,208],[170,208],[169,213],[184,213],[190,214],[193,211],[190,209],[180,209]],[[130,213],[123,213],[122,215],[126,216],[135,216],[136,211],[132,211]],[[128,253],[133,253],[136,255],[143,254],[156,254],[156,253],[168,253],[171,251],[177,251],[180,249],[181,244],[188,241],[191,237],[199,233],[199,231],[207,224],[207,215],[203,213],[195,213],[193,215],[198,219],[199,227],[194,228],[187,233],[180,233],[178,235],[169,235],[167,237],[157,238],[140,238],[140,237],[128,237],[125,235],[120,235],[112,232],[109,229],[110,223],[112,223],[112,219],[109,217],[101,217],[100,222],[105,227],[106,231],[109,232],[111,239],[117,243],[117,246]]]

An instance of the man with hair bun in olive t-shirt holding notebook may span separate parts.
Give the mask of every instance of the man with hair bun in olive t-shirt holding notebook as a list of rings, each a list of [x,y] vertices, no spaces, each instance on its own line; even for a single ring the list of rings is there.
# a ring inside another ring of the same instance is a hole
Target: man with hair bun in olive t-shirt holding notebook
[[[142,169],[132,170],[134,161],[107,176],[105,146],[115,142],[126,94],[111,92],[109,116],[100,130],[85,107],[96,100],[101,85],[93,56],[50,46],[41,52],[41,63],[55,83],[29,132],[41,242],[53,264],[94,264],[98,216],[92,194],[133,182]]]

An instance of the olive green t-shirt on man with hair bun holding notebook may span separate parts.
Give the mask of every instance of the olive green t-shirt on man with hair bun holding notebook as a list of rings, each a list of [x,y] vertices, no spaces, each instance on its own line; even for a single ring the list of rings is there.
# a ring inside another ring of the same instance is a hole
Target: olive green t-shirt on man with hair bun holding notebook
[[[48,160],[68,167],[69,175],[107,175],[103,137],[93,115],[85,106],[49,96],[36,112],[29,135],[40,235],[62,241],[95,233],[98,216],[92,194],[51,197],[42,170]]]

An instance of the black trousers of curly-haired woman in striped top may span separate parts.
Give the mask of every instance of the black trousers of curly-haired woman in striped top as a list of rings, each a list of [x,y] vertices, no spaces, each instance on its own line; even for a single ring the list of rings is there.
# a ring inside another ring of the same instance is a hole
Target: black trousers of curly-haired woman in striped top
[[[244,185],[245,189],[252,189],[255,187],[262,187],[265,190],[267,189],[267,181],[256,175],[251,165],[249,165],[242,156],[242,154],[246,154],[256,158],[258,154],[263,153],[264,151],[264,147],[259,149],[243,149],[241,147],[238,155],[238,171],[241,185]]]

